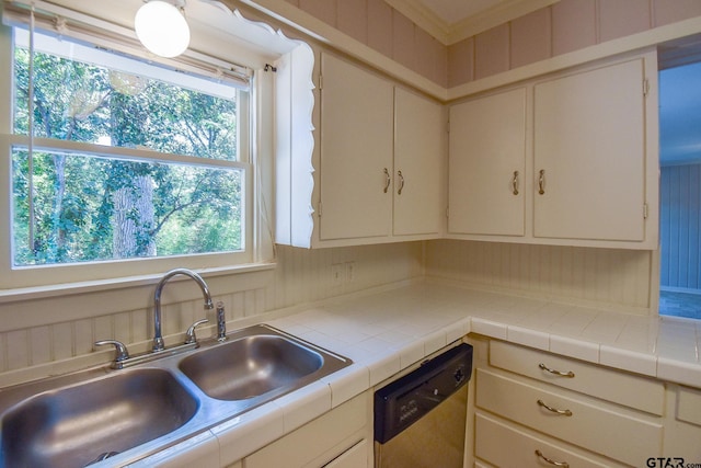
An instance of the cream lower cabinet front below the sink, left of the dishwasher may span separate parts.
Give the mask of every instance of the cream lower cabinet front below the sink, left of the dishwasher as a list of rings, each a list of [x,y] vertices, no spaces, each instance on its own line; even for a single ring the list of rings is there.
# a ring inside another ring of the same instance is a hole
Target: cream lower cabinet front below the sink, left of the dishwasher
[[[372,466],[370,393],[361,393],[251,454],[243,468]]]

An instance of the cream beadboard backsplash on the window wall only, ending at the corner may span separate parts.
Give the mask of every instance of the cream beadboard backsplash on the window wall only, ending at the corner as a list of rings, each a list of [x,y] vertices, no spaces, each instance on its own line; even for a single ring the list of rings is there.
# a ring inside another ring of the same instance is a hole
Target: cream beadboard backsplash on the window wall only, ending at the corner
[[[332,265],[354,262],[353,281],[338,285]],[[227,320],[246,324],[251,317],[341,294],[401,282],[423,274],[423,246],[407,242],[338,249],[277,248],[274,270],[207,277]],[[123,341],[131,352],[148,349],[153,335],[154,284],[0,305],[0,388],[61,374],[111,359],[110,349],[93,351],[96,340]],[[191,281],[163,289],[163,334],[181,340],[207,313]],[[215,323],[214,311],[209,312]],[[200,336],[212,333],[214,327]]]

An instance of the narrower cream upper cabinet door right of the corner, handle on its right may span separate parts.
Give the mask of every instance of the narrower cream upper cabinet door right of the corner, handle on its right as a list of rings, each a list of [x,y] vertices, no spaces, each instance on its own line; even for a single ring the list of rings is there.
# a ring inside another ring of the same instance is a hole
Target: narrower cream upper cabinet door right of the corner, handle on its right
[[[450,107],[448,232],[524,236],[526,89]]]

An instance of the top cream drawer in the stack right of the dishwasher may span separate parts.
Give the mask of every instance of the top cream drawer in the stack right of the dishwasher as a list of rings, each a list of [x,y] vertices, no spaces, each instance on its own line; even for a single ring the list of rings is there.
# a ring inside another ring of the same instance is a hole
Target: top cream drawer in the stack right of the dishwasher
[[[652,414],[664,414],[665,385],[659,380],[502,341],[491,342],[490,364]],[[549,373],[540,367],[541,364],[552,370],[571,372],[574,377]]]

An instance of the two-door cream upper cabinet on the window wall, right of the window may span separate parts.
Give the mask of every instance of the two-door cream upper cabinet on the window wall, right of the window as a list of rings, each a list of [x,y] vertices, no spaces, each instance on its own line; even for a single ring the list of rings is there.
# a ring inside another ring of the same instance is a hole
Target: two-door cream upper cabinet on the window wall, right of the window
[[[278,243],[336,247],[440,237],[445,107],[325,53],[318,98],[312,170],[298,175],[278,170],[278,207],[281,202],[285,209],[278,226],[292,233],[277,236]],[[297,164],[308,168],[303,161]],[[313,196],[294,190],[300,179],[313,181]],[[294,212],[287,205],[299,207],[301,215],[287,216]]]

